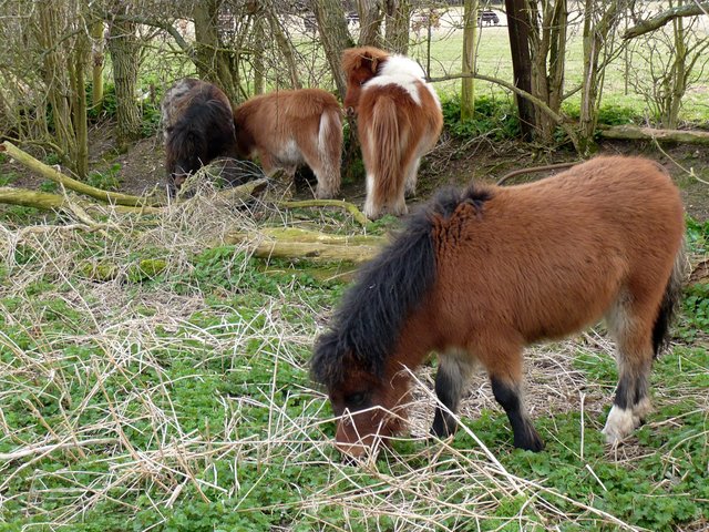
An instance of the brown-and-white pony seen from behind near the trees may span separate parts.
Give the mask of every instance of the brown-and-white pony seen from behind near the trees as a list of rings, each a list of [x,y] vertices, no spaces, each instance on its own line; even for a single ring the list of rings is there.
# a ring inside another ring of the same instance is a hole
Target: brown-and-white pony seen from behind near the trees
[[[345,108],[357,114],[367,170],[364,214],[407,213],[405,195],[415,194],[421,157],[443,127],[441,102],[421,66],[372,47],[342,54],[347,76]]]

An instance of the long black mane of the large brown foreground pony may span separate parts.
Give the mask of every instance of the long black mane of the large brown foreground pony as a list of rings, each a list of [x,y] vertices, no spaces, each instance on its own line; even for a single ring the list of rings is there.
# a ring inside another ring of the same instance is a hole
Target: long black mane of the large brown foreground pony
[[[461,203],[477,208],[491,197],[486,188],[446,188],[409,217],[391,244],[362,267],[330,323],[315,345],[310,362],[314,380],[328,388],[345,378],[348,356],[362,369],[383,376],[386,361],[410,314],[432,288],[436,276],[432,228],[448,219]]]

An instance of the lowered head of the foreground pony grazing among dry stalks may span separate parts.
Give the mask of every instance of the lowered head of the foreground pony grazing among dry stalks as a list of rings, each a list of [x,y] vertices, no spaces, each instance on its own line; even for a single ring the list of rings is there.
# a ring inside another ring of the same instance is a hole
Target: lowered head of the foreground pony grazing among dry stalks
[[[407,374],[379,375],[380,368],[345,348],[335,332],[318,339],[311,369],[339,418],[335,439],[343,454],[360,458],[401,430],[409,395]]]

